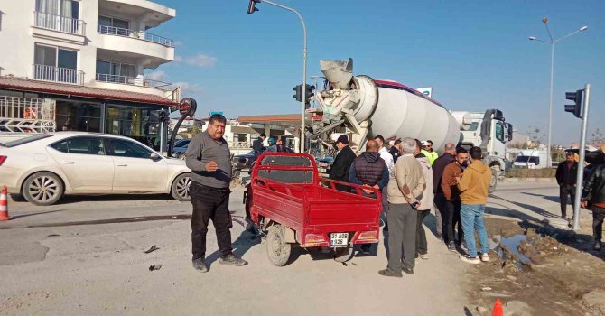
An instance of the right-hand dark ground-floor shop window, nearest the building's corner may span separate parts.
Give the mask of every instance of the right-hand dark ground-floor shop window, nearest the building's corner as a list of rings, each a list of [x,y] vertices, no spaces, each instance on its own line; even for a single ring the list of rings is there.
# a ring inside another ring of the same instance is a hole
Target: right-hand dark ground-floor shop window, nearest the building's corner
[[[107,105],[105,133],[133,138],[152,148],[160,148],[157,107]]]

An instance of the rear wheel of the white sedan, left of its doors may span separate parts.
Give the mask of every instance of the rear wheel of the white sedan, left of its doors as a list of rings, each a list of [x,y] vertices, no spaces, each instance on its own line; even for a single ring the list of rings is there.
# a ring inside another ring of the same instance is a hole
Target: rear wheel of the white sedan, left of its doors
[[[23,197],[33,205],[52,205],[63,196],[63,182],[52,172],[33,173],[23,183]]]

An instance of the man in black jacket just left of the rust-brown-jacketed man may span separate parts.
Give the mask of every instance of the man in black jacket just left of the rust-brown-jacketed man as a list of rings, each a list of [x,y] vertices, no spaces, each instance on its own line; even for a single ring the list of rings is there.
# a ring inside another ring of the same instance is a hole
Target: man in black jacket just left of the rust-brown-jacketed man
[[[437,218],[437,239],[442,238],[442,232],[447,232],[447,230],[444,229],[445,223],[443,222],[443,219],[447,216],[447,203],[441,187],[443,170],[445,169],[445,166],[456,160],[454,157],[456,154],[455,144],[445,144],[443,149],[444,153],[439,158],[435,159],[435,162],[433,163],[433,194],[435,196],[435,217]]]

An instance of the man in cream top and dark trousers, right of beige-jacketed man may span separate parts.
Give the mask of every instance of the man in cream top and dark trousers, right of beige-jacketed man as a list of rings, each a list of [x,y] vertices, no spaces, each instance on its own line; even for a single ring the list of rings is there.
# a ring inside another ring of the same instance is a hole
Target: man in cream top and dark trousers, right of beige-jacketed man
[[[424,218],[431,212],[433,208],[433,168],[431,167],[431,162],[426,158],[420,150],[422,148],[422,144],[420,140],[416,141],[416,150],[414,151],[414,156],[420,165],[423,167],[424,180],[426,183],[424,184],[423,190],[423,199],[420,200],[420,205],[418,206],[418,218],[416,222],[416,256],[423,260],[427,260],[429,258],[429,248],[426,244],[426,232],[424,231]]]

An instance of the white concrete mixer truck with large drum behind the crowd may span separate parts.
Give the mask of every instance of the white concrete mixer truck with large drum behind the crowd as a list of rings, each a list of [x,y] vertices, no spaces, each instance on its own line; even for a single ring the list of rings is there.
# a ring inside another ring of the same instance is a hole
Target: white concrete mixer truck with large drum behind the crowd
[[[315,95],[319,106],[309,110],[321,120],[310,127],[312,142],[321,144],[329,154],[333,154],[333,143],[341,134],[349,135],[351,147],[358,152],[375,135],[430,139],[440,154],[446,143],[480,146],[486,153],[486,163],[492,166],[490,191],[496,189],[498,178],[504,176],[504,142],[510,136],[505,135],[501,141],[498,137],[505,130],[512,135],[502,112],[489,110],[480,122],[468,112],[452,113],[433,98],[396,81],[353,76],[352,59],[321,60],[320,67],[327,84]],[[496,135],[501,149],[493,140]],[[501,158],[492,157],[492,153]],[[329,163],[322,165],[330,168]]]

